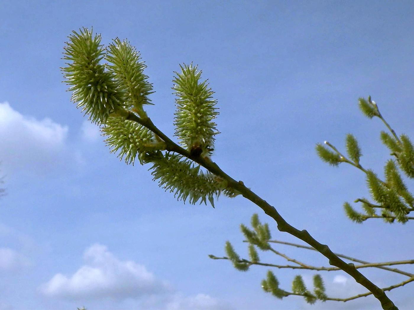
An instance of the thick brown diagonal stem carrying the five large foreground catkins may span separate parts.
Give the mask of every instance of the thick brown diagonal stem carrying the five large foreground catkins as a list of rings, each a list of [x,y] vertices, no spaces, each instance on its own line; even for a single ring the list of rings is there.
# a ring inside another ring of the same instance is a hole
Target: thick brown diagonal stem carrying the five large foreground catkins
[[[135,115],[132,112],[128,112],[128,116],[126,117],[127,120],[132,120],[137,123],[140,123],[141,125],[147,127],[149,130],[157,134],[161,139],[164,140],[166,143],[167,151],[173,151],[178,154],[181,154],[183,156],[188,157],[189,159],[195,161],[196,163],[200,164],[201,166],[205,167],[207,170],[209,170],[211,173],[214,173],[215,175],[221,177],[222,179],[226,180],[228,182],[228,185],[232,187],[233,189],[240,192],[243,197],[250,200],[254,204],[256,204],[258,207],[260,207],[268,216],[270,216],[272,219],[274,219],[277,222],[277,229],[279,231],[283,231],[286,233],[291,234],[292,236],[295,236],[296,238],[299,238],[303,240],[304,242],[311,245],[313,248],[315,248],[318,252],[320,252],[322,255],[327,257],[329,259],[329,264],[335,267],[338,267],[339,269],[342,269],[344,272],[352,276],[356,282],[364,286],[366,289],[371,291],[375,298],[377,298],[383,309],[398,309],[392,300],[388,298],[387,295],[385,295],[384,291],[380,289],[378,286],[373,284],[371,281],[369,281],[363,274],[361,274],[354,266],[354,264],[349,263],[347,264],[343,260],[341,260],[337,255],[334,254],[330,250],[330,248],[322,243],[319,243],[317,240],[315,240],[308,231],[306,230],[298,230],[297,228],[291,226],[289,223],[285,221],[285,219],[277,212],[277,210],[268,204],[264,199],[260,198],[258,195],[256,195],[252,190],[250,190],[248,187],[244,185],[242,181],[237,182],[233,178],[231,178],[229,175],[227,175],[224,171],[220,169],[220,167],[211,161],[210,159],[204,159],[200,156],[194,156],[190,154],[189,151],[183,149],[182,147],[178,146],[176,143],[174,143],[170,138],[168,138],[166,135],[164,135],[163,132],[161,132],[155,125],[152,123],[150,118],[139,118],[137,115]]]

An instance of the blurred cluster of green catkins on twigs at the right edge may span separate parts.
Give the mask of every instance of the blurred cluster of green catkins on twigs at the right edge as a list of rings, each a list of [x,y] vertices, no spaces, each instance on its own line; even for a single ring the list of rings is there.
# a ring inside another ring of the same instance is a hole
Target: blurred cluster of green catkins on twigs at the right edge
[[[397,220],[406,223],[411,211],[414,211],[414,197],[408,190],[401,176],[400,170],[408,177],[414,178],[414,147],[407,135],[397,137],[394,130],[388,125],[381,115],[375,101],[368,97],[359,99],[359,108],[368,118],[380,118],[390,130],[391,134],[381,131],[380,138],[393,156],[385,163],[384,176],[381,180],[371,169],[364,169],[359,160],[362,156],[361,148],[356,138],[348,134],[346,137],[346,149],[348,158],[342,155],[332,144],[325,141],[327,149],[322,144],[316,145],[319,157],[331,166],[338,166],[339,163],[350,163],[366,173],[366,184],[373,202],[366,198],[358,198],[355,202],[361,202],[365,214],[356,211],[349,202],[344,203],[344,210],[352,221],[362,223],[368,218],[382,218],[385,222],[393,223]],[[399,168],[400,169],[399,169]],[[380,214],[377,214],[377,211]]]

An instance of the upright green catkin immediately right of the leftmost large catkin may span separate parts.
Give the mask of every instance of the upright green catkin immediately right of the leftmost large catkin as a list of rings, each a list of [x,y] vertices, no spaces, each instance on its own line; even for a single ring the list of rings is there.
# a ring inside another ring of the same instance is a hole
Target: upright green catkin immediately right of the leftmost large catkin
[[[148,76],[144,74],[144,68],[147,66],[140,61],[140,53],[127,40],[121,41],[119,38],[115,38],[107,50],[105,58],[112,63],[107,67],[120,88],[127,94],[126,106],[135,107],[137,111],[142,112],[143,104],[153,104],[148,96],[154,91],[152,84],[148,82]]]

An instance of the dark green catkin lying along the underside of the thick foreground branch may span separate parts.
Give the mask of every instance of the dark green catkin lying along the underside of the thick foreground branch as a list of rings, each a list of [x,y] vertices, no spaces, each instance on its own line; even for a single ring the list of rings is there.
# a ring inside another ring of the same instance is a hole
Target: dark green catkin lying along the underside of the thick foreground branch
[[[221,192],[232,193],[217,181],[214,174],[203,173],[200,165],[182,155],[166,152],[151,161],[154,165],[149,170],[153,170],[153,180],[159,180],[159,186],[174,192],[178,200],[185,202],[188,198],[190,204],[195,204],[201,199],[200,204],[207,204],[208,199],[214,207],[214,197],[219,197]]]

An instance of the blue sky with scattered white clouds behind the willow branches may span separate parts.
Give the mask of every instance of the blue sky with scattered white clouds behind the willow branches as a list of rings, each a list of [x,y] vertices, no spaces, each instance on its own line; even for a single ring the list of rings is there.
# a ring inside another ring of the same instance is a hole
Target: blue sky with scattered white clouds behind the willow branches
[[[383,125],[357,107],[368,95],[397,133],[412,135],[413,2],[2,1],[0,14],[1,309],[379,307],[373,297],[314,306],[277,300],[260,288],[266,268],[242,273],[210,260],[224,255],[226,240],[246,256],[238,226],[254,212],[273,238],[297,240],[243,197],[220,197],[215,209],[183,205],[151,181],[149,167],[120,162],[70,102],[60,58],[82,26],[93,26],[103,44],[128,38],[154,83],[147,112],[170,137],[173,71],[194,61],[218,99],[213,160],[226,173],[334,252],[404,260],[412,258],[412,223],[349,221],[342,204],[368,196],[364,175],[327,166],[314,147],[328,140],[344,149],[351,132],[363,166],[381,175],[389,153],[379,140]],[[317,253],[278,249],[328,264]],[[306,281],[314,274],[274,272],[286,290],[296,274]],[[364,274],[379,286],[403,280]],[[322,275],[332,297],[365,292],[344,273]],[[412,284],[388,296],[414,308],[410,293]]]

